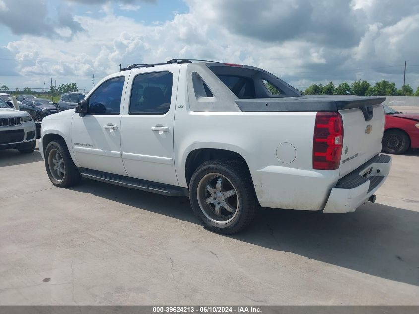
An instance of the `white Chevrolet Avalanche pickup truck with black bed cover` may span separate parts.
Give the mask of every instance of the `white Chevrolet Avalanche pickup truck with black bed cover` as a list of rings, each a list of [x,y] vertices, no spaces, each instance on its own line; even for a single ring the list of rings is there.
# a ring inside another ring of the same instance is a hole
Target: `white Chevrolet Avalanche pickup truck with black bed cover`
[[[55,186],[85,177],[186,195],[203,224],[231,234],[259,206],[344,213],[375,201],[391,164],[383,100],[302,96],[238,64],[134,64],[46,117],[39,148]]]

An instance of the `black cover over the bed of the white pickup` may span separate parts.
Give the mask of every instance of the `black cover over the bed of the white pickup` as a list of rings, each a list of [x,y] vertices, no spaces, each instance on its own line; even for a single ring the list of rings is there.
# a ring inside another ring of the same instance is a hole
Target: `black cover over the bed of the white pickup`
[[[241,111],[338,111],[379,105],[385,97],[377,96],[298,96],[258,99],[239,99],[236,104]]]

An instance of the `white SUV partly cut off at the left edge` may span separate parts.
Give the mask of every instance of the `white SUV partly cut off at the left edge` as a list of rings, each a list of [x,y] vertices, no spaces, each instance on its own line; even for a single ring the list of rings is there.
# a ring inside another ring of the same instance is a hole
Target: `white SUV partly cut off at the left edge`
[[[0,150],[17,149],[21,153],[35,150],[36,129],[32,117],[24,111],[10,108],[0,97]]]

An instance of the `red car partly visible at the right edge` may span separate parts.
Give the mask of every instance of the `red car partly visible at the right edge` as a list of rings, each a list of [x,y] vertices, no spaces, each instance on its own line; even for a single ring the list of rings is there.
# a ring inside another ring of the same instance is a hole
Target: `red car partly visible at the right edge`
[[[403,154],[409,148],[419,148],[419,113],[402,113],[383,105],[386,124],[383,152]]]

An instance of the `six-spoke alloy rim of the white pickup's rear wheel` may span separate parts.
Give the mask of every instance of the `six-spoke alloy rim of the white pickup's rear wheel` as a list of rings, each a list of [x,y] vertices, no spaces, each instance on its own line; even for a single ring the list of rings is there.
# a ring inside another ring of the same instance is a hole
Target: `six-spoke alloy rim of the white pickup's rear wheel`
[[[212,222],[227,224],[239,211],[239,195],[229,179],[219,173],[201,178],[197,187],[202,213]]]

